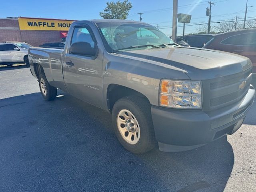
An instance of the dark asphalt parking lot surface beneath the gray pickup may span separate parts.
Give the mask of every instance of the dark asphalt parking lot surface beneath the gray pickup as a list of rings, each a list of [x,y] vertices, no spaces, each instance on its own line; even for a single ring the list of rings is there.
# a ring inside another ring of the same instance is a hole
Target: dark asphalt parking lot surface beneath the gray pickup
[[[43,100],[26,66],[0,67],[0,191],[255,192],[256,104],[242,127],[196,150],[126,151],[110,114],[58,90]]]

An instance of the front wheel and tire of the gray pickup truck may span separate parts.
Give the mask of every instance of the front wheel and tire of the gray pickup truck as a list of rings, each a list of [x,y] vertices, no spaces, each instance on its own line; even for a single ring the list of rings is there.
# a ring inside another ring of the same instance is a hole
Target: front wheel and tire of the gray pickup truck
[[[156,145],[151,106],[146,99],[138,96],[119,99],[112,109],[112,123],[119,142],[128,151],[142,154]]]

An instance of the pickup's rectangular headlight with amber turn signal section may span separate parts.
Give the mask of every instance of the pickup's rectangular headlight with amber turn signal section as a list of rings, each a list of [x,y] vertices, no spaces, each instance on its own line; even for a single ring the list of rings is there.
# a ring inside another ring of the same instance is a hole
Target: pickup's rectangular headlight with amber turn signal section
[[[201,82],[162,80],[159,104],[171,108],[201,108]]]

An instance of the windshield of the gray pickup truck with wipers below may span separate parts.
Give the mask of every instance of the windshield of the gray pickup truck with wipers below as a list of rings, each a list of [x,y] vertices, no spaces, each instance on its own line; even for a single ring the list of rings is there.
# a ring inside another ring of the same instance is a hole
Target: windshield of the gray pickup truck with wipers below
[[[102,22],[97,25],[104,36],[108,52],[126,48],[146,49],[156,48],[163,44],[174,44],[168,36],[149,24]]]

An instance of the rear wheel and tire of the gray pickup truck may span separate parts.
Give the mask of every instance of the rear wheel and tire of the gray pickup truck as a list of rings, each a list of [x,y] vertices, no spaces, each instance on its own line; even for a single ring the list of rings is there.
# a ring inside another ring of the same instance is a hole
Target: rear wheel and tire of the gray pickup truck
[[[39,88],[45,100],[54,100],[57,96],[57,89],[49,84],[44,74],[38,76]]]

